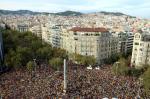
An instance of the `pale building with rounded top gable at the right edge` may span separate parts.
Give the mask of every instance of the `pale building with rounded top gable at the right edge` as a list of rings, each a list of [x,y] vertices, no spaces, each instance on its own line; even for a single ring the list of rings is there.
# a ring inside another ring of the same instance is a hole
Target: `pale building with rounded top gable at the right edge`
[[[131,65],[141,67],[150,64],[150,33],[134,35]]]

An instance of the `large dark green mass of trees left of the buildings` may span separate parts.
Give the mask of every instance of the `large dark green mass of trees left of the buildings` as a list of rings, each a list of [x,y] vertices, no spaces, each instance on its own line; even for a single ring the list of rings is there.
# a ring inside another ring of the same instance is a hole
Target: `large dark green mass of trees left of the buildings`
[[[65,50],[53,48],[31,32],[20,33],[13,30],[2,30],[4,40],[5,64],[8,67],[20,68],[36,59],[48,63],[52,58],[67,58]]]

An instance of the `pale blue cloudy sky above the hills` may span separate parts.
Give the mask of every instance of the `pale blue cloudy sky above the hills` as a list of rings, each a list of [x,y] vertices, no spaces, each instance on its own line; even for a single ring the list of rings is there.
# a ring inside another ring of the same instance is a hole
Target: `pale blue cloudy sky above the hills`
[[[122,12],[141,18],[150,18],[150,0],[0,0],[0,9],[83,13]]]

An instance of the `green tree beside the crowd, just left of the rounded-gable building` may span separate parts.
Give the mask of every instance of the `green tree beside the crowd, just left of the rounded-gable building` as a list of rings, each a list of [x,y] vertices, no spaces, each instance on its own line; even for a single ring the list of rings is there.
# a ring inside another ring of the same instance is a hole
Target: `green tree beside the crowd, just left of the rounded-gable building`
[[[121,58],[118,62],[114,63],[112,70],[116,75],[127,75],[128,66],[126,64],[126,60],[124,58]]]

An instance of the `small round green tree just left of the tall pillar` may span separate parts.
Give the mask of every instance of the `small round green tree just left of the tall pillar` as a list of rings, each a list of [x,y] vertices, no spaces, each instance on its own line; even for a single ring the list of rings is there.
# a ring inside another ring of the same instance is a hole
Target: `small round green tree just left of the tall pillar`
[[[61,66],[63,65],[63,60],[61,58],[52,58],[49,60],[50,66],[55,70],[60,70]]]

